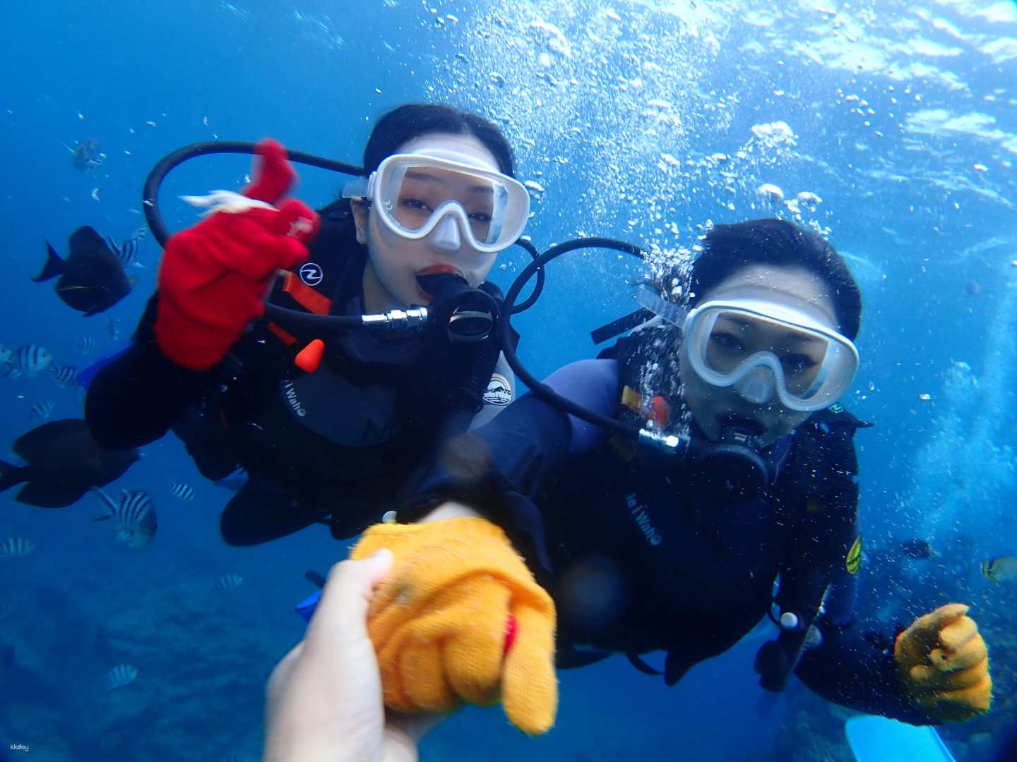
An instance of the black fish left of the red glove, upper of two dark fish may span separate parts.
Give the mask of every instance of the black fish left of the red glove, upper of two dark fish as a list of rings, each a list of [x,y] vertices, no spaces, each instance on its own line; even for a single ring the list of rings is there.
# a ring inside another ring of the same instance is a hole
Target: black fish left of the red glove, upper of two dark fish
[[[70,254],[61,259],[47,243],[46,266],[37,283],[60,275],[57,296],[71,309],[89,317],[110,309],[130,294],[130,280],[117,255],[110,250],[103,237],[88,226],[71,234]]]

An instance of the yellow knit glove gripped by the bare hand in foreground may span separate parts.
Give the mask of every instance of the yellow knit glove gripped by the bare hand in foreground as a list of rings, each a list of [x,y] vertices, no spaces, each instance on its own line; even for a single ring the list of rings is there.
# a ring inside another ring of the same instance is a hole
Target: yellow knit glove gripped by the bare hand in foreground
[[[539,735],[554,724],[554,604],[501,529],[478,517],[375,524],[350,558],[387,548],[390,577],[371,600],[367,632],[385,705],[402,712],[500,700]]]

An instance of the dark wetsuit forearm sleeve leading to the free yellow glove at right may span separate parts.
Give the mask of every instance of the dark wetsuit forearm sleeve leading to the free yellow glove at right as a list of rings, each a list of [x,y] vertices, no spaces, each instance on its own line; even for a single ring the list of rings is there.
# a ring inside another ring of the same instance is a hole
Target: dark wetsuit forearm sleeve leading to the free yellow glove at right
[[[818,622],[823,643],[805,651],[795,674],[828,701],[911,724],[934,724],[900,690],[893,657],[895,633],[873,617],[845,616],[856,578],[834,582],[827,613]]]

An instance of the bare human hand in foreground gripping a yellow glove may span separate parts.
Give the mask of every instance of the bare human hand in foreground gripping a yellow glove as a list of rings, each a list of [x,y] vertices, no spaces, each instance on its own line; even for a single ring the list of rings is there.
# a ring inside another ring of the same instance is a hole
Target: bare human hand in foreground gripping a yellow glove
[[[417,759],[433,715],[385,715],[368,605],[392,571],[380,551],[333,567],[307,633],[268,679],[265,762]]]

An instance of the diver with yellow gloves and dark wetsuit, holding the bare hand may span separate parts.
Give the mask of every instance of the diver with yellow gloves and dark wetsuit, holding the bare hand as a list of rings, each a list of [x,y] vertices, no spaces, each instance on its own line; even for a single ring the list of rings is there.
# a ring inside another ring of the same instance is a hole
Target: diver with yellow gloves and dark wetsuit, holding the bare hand
[[[672,685],[769,614],[765,688],[793,672],[831,701],[913,723],[985,712],[986,648],[967,607],[897,632],[855,616],[852,438],[869,424],[837,403],[861,310],[839,255],[782,220],[717,226],[689,285],[682,309],[659,296],[674,293],[662,278],[641,300],[656,317],[545,382],[669,451],[530,393],[473,432],[490,472],[432,468],[399,519],[440,507],[501,525],[554,598],[559,666],[625,653]],[[662,673],[642,658],[654,650]]]

